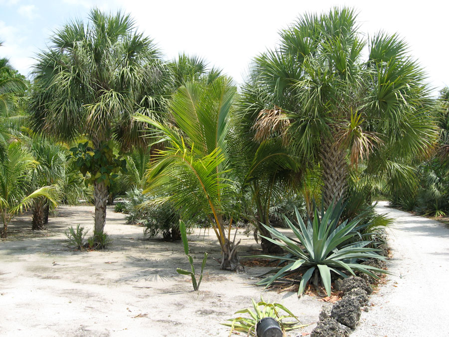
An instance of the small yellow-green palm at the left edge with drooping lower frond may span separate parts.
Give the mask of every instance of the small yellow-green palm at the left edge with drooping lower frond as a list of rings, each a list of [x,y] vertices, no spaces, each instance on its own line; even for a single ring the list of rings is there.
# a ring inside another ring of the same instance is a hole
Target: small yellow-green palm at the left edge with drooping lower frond
[[[30,171],[37,162],[21,144],[13,142],[6,148],[5,156],[0,163],[0,212],[3,222],[2,238],[6,238],[8,224],[15,214],[31,207],[35,200],[46,198],[56,204],[57,194],[53,186],[40,187],[27,194],[30,186]]]

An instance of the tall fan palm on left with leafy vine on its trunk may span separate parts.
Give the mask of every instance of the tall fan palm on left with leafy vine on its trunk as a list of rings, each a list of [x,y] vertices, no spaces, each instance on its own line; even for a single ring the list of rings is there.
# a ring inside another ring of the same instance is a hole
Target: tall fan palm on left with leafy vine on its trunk
[[[151,114],[163,104],[167,71],[152,40],[122,12],[94,8],[87,24],[72,21],[50,41],[34,66],[32,127],[65,141],[84,136],[99,153],[95,165],[88,163],[94,167],[89,173],[95,177],[94,231],[99,233],[114,173],[110,168],[117,163],[107,144],[116,140],[122,150],[146,145],[137,132],[142,125],[131,116],[136,110]]]

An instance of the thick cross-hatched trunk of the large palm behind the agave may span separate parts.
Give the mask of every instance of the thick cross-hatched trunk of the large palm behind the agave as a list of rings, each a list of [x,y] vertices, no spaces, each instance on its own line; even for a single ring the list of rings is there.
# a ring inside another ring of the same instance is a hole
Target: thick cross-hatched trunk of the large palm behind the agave
[[[332,202],[345,197],[348,178],[346,151],[337,142],[325,140],[321,143],[321,167],[323,179],[323,201],[327,208]]]

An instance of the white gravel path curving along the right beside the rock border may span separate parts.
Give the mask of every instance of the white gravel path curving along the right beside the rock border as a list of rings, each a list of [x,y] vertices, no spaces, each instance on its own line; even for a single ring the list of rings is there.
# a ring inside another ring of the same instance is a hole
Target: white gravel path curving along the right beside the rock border
[[[378,205],[395,219],[387,285],[351,337],[449,336],[449,229],[420,216]]]

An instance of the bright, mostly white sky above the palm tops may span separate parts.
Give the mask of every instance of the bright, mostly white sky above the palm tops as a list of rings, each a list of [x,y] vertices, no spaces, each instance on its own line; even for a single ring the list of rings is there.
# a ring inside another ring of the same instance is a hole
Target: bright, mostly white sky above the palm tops
[[[436,90],[449,85],[448,1],[327,0],[0,0],[0,57],[27,75],[52,31],[92,6],[131,13],[141,31],[157,42],[167,59],[179,52],[205,57],[236,82],[251,58],[278,40],[278,31],[304,12],[348,5],[359,12],[361,31],[399,33],[410,45]]]

